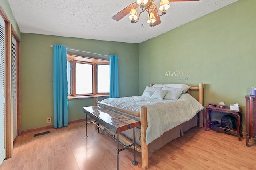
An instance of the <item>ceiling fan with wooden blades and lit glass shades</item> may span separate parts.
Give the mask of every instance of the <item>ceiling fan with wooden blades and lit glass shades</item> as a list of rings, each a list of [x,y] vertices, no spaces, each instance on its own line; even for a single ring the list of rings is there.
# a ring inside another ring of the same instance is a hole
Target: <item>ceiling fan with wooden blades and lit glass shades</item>
[[[124,18],[127,14],[129,14],[129,19],[131,20],[131,23],[136,23],[140,19],[140,14],[142,12],[148,13],[148,20],[147,23],[149,23],[150,27],[154,27],[161,23],[160,16],[166,14],[166,10],[170,8],[169,2],[176,2],[176,1],[199,1],[199,0],[161,0],[159,10],[161,11],[161,14],[159,14],[156,5],[153,3],[156,0],[137,0],[137,2],[134,2],[118,12],[116,15],[112,16],[112,19],[119,21],[122,18]],[[137,14],[136,8],[142,9],[142,11]]]

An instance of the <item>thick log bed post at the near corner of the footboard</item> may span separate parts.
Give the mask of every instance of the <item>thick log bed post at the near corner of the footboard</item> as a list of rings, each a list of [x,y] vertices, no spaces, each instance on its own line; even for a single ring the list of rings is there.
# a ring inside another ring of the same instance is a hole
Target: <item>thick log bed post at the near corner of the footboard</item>
[[[146,145],[146,129],[148,127],[147,107],[142,106],[140,109],[140,131],[141,131],[141,166],[143,169],[148,168],[148,145]]]

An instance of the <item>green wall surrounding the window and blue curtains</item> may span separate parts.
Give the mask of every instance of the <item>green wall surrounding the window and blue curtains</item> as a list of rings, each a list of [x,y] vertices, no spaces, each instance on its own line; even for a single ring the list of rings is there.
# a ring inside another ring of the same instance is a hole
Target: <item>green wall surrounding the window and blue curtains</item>
[[[104,55],[117,55],[120,97],[139,94],[138,44],[29,33],[22,33],[21,37],[22,130],[53,125],[53,119],[51,124],[46,123],[47,117],[53,118],[53,48],[50,47],[53,44]],[[92,105],[93,98],[70,100],[69,121],[85,118],[82,107]]]

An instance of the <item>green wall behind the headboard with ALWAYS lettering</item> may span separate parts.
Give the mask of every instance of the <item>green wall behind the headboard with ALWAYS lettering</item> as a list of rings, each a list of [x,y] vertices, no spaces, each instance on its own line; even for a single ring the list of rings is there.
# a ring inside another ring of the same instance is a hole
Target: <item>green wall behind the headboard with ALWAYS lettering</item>
[[[239,0],[140,43],[140,94],[150,83],[204,83],[204,106],[239,103],[244,126],[244,96],[256,86],[255,7],[256,0]]]

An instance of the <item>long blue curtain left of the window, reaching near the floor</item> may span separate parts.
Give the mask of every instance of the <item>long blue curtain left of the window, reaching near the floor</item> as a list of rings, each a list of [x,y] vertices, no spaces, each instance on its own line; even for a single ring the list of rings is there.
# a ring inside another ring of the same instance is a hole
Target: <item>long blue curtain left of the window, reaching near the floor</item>
[[[54,128],[68,126],[67,49],[53,47],[53,109]]]

